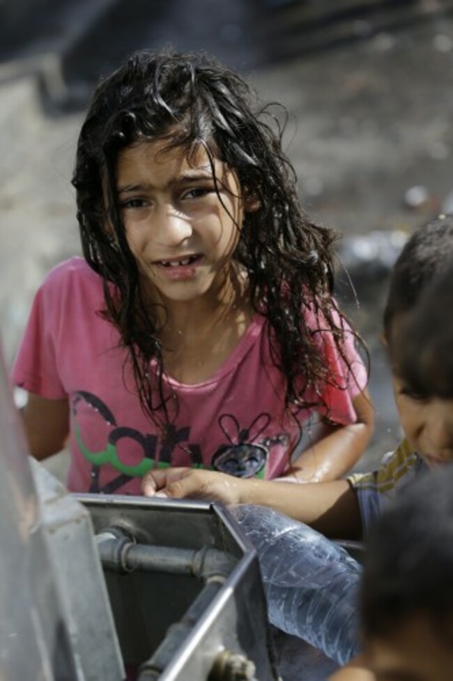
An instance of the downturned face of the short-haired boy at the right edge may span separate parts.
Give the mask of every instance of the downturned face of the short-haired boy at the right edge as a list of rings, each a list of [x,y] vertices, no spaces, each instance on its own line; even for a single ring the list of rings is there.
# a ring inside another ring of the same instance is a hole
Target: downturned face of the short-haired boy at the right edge
[[[398,338],[394,329],[392,337]],[[417,453],[430,468],[451,463],[453,399],[418,395],[395,372],[393,390],[401,426]]]

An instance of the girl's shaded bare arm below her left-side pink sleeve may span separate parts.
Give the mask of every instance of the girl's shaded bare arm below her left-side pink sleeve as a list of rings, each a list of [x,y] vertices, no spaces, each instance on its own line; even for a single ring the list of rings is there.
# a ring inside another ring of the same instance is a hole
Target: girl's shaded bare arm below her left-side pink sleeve
[[[42,461],[65,447],[69,435],[67,398],[48,400],[29,393],[21,414],[31,456]]]

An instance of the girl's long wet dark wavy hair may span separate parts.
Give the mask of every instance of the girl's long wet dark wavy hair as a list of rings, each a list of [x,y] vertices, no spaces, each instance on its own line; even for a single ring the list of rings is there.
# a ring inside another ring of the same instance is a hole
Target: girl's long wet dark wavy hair
[[[157,316],[141,299],[137,263],[125,237],[116,163],[124,147],[156,139],[188,152],[203,145],[209,158],[232,168],[240,186],[259,201],[256,212],[245,214],[234,257],[247,270],[252,306],[268,319],[272,359],[286,377],[286,405],[305,404],[307,387],[318,387],[321,394],[319,386],[334,380],[307,328],[305,306],[321,313],[324,329],[332,331],[343,354],[344,331],[332,316],[337,310],[331,297],[334,234],[314,225],[300,208],[272,107],[260,107],[238,75],[205,54],[164,50],[132,54],[95,89],[72,179],[84,257],[103,278],[103,314],[128,349],[142,408],[153,418],[166,410],[162,346]],[[105,228],[107,219],[114,236]],[[158,363],[157,383],[148,375],[150,359]]]

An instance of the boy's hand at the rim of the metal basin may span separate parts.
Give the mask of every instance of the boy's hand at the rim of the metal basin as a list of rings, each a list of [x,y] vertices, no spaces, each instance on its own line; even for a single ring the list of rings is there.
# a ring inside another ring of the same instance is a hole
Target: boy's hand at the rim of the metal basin
[[[146,497],[202,499],[240,504],[243,481],[233,475],[197,468],[161,468],[146,474],[141,491]]]

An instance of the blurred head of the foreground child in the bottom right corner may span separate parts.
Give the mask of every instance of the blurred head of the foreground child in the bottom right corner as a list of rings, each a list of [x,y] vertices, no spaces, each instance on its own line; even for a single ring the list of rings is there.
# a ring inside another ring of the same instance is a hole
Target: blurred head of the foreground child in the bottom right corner
[[[453,669],[453,468],[415,482],[371,528],[364,649],[378,680],[445,681]]]

